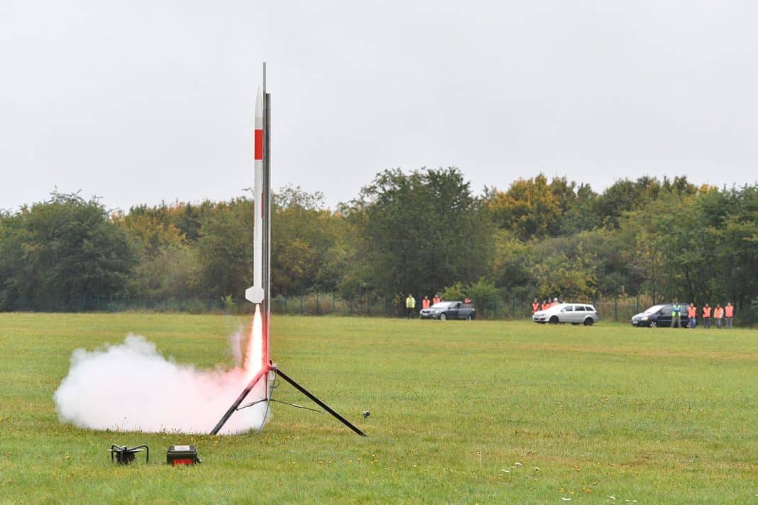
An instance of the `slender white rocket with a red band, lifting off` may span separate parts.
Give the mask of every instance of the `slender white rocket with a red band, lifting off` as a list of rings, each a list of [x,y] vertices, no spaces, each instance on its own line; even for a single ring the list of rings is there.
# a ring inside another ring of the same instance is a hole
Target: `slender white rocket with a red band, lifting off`
[[[254,304],[263,303],[263,103],[261,89],[255,98],[255,133],[254,133],[254,164],[253,164],[253,221],[252,221],[252,286],[245,290],[245,298]]]

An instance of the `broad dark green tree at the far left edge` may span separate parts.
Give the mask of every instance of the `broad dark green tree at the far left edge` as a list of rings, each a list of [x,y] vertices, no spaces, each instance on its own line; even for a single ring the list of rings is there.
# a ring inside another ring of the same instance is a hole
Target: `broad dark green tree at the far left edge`
[[[53,193],[3,220],[4,310],[83,310],[120,295],[136,263],[127,233],[95,199]]]

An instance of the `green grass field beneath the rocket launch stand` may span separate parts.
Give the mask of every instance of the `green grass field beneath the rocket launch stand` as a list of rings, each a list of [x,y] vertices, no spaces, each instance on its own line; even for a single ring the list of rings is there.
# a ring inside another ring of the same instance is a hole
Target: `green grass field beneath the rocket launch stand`
[[[0,314],[0,502],[758,503],[756,330],[277,316],[277,363],[368,438],[280,404],[263,432],[227,437],[58,422],[75,348],[135,332],[211,368],[238,323]],[[143,442],[154,464],[111,465],[111,443]],[[180,443],[202,465],[161,463]]]

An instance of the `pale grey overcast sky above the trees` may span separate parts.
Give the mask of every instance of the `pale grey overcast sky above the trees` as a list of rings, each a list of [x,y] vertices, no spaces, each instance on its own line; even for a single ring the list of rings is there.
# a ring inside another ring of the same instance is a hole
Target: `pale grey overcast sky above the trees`
[[[391,167],[474,189],[758,180],[758,2],[0,0],[0,208],[243,195],[268,62],[274,187]]]

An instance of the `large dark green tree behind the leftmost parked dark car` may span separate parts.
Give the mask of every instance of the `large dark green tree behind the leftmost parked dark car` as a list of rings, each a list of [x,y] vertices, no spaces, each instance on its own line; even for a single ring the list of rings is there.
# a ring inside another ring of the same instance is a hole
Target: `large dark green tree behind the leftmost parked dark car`
[[[359,229],[365,278],[384,295],[434,293],[483,275],[489,218],[460,170],[386,170],[347,210]]]

